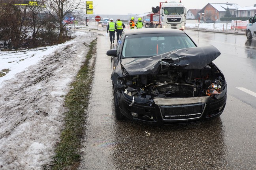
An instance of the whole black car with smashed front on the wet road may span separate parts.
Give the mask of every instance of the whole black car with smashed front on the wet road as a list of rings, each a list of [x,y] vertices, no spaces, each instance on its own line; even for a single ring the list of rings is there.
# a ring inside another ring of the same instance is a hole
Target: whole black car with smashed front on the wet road
[[[107,55],[117,120],[192,123],[216,118],[225,108],[227,82],[213,64],[220,52],[197,47],[181,30],[124,31]]]

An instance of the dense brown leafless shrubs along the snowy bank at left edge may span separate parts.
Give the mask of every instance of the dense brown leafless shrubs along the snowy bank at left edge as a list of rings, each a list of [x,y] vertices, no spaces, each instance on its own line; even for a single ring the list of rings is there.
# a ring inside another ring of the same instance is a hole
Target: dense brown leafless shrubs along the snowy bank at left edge
[[[55,16],[42,8],[33,4],[6,4],[0,0],[0,50],[36,48],[70,40],[72,26],[61,26]]]

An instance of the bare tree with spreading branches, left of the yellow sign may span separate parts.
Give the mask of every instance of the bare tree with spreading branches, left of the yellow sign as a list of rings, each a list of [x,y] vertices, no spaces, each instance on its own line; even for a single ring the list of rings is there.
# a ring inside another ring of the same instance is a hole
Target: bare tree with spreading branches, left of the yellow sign
[[[72,13],[78,9],[81,0],[40,0],[45,10],[51,15],[59,24],[58,42],[63,42],[63,33],[65,32],[65,24],[63,19],[68,13]]]

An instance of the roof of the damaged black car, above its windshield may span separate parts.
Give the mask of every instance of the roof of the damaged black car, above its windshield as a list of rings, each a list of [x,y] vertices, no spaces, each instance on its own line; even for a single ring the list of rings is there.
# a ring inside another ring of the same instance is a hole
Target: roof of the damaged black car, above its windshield
[[[183,31],[179,29],[171,29],[171,28],[143,28],[143,29],[134,29],[134,30],[124,30],[126,35],[134,35],[134,34],[156,34],[156,33],[183,33]]]

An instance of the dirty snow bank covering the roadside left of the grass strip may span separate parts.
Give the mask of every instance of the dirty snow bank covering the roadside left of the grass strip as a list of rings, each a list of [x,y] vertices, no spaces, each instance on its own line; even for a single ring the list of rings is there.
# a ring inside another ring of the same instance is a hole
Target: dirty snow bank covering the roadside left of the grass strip
[[[51,47],[0,52],[0,169],[42,169],[54,155],[63,128],[64,96],[70,90],[96,38],[76,32],[75,39]]]

